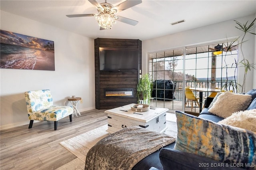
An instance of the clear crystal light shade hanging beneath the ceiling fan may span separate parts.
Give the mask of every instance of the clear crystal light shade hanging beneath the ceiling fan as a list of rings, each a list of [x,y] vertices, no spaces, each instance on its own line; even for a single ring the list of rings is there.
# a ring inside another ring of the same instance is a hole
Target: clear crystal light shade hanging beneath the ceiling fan
[[[103,13],[96,16],[96,20],[100,27],[105,29],[111,29],[112,24],[116,24],[114,17],[111,14]]]

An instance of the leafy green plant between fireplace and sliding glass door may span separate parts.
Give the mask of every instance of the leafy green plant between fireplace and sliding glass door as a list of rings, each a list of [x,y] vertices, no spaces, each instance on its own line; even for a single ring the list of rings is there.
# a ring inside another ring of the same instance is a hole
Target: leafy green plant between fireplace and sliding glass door
[[[138,98],[138,103],[147,105],[150,104],[152,87],[153,83],[152,80],[150,79],[150,75],[148,73],[144,74],[137,84],[136,96]]]

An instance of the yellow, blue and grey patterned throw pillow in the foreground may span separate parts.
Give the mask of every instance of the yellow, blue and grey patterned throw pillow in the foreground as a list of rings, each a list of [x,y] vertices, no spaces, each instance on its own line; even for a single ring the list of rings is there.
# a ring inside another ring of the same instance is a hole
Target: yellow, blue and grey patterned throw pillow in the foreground
[[[256,134],[176,111],[178,135],[174,149],[228,165],[256,166]],[[242,167],[241,167],[242,168]]]

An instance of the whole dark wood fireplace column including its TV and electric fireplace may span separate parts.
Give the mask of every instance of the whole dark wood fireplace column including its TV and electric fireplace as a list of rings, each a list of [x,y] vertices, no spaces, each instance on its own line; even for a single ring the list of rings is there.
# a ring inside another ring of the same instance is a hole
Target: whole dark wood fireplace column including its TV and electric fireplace
[[[101,51],[102,49],[105,50]],[[123,52],[122,54],[117,53],[119,66],[115,66],[117,61],[114,49]],[[94,40],[96,109],[113,109],[137,103],[137,84],[142,69],[141,50],[142,42],[138,39],[97,38]],[[137,54],[131,51],[137,51]],[[102,57],[103,52],[105,52],[104,57]],[[136,57],[130,59],[130,54]],[[138,61],[134,61],[135,58]],[[128,62],[136,63],[136,67]]]

